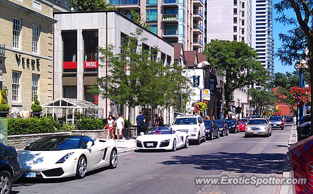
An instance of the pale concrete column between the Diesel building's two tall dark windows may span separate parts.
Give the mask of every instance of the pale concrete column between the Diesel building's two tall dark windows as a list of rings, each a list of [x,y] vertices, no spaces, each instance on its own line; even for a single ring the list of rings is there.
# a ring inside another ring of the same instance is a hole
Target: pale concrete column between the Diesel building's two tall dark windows
[[[84,100],[84,44],[82,30],[77,30],[77,99]]]

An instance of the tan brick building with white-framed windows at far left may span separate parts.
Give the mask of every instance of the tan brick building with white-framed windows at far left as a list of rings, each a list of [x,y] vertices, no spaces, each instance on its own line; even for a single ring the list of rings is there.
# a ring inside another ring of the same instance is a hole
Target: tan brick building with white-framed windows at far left
[[[0,0],[0,85],[11,108],[53,99],[53,18],[49,0]]]

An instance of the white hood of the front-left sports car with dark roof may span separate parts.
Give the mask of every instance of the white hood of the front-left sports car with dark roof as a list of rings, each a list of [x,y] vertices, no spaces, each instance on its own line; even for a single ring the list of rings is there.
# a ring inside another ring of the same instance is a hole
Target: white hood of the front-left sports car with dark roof
[[[21,165],[30,164],[55,164],[67,153],[75,152],[78,149],[61,150],[61,151],[28,151],[20,150],[19,161]]]

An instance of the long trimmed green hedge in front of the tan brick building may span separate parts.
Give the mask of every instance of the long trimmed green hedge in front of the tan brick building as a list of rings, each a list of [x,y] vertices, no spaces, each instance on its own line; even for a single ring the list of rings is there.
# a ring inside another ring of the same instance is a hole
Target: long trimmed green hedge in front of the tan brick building
[[[9,118],[8,135],[22,135],[32,133],[52,133],[60,131],[60,124],[53,118]]]

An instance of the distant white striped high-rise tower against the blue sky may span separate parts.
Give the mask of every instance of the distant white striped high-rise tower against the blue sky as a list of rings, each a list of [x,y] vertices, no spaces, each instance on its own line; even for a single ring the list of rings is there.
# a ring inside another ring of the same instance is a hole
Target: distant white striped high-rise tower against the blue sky
[[[274,74],[273,0],[252,0],[251,47],[269,74]]]

